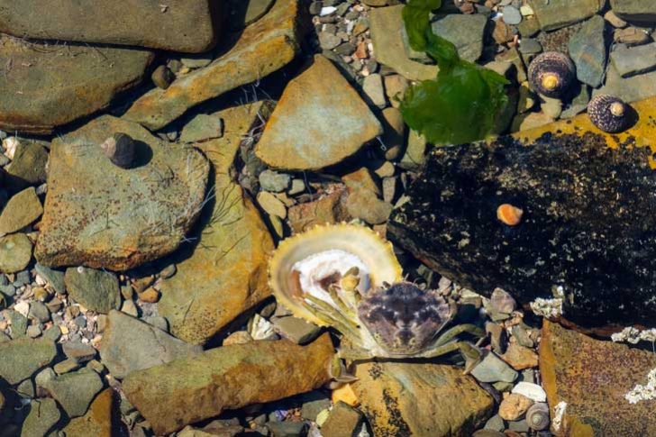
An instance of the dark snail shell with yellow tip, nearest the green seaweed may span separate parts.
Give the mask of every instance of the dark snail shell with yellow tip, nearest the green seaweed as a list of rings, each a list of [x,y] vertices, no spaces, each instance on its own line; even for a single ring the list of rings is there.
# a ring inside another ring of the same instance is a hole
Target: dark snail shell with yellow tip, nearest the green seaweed
[[[528,68],[531,87],[542,96],[565,95],[576,80],[576,67],[569,57],[558,51],[547,51],[537,56]]]

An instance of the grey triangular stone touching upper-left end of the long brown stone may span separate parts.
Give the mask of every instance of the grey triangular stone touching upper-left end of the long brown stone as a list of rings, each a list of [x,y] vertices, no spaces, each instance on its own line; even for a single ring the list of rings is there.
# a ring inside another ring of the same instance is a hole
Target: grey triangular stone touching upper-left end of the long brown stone
[[[187,344],[120,311],[109,312],[100,343],[103,364],[119,379],[200,351],[200,346]]]

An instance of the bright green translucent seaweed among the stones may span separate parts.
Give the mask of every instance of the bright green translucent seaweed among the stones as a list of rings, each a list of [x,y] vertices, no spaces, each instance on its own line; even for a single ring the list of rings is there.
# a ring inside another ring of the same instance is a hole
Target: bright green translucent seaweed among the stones
[[[496,72],[460,59],[451,41],[433,33],[431,11],[442,0],[408,0],[403,9],[405,32],[414,50],[425,51],[440,68],[435,80],[424,80],[405,93],[400,110],[405,123],[429,142],[460,144],[485,139],[508,98],[508,81]]]

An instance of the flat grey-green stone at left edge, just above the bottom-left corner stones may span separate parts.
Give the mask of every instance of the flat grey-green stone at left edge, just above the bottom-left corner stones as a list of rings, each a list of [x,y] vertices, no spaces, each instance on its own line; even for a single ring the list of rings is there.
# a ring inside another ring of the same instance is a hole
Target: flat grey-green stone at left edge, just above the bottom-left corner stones
[[[0,343],[0,377],[9,384],[18,384],[32,377],[32,374],[50,364],[57,356],[54,341],[47,338],[39,340],[20,339]]]

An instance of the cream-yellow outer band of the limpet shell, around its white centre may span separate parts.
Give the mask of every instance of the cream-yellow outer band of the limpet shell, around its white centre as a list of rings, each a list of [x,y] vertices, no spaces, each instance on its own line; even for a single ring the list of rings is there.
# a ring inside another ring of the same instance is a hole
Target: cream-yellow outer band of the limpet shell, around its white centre
[[[402,279],[402,269],[394,256],[391,243],[367,227],[346,223],[323,225],[287,238],[280,243],[269,262],[269,285],[279,304],[307,322],[326,325],[308,311],[306,292],[300,285],[299,274],[294,267],[298,262],[330,250],[339,250],[359,259],[368,273],[365,288],[383,287],[384,283],[393,284]],[[368,289],[360,291],[367,292]],[[335,306],[330,296],[319,298]]]

